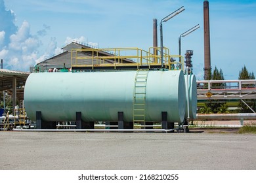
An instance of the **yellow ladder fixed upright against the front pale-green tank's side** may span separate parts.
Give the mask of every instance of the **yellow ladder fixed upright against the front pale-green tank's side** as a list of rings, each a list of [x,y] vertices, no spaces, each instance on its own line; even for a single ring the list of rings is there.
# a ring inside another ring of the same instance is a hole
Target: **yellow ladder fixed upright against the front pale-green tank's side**
[[[145,125],[146,81],[148,70],[138,70],[135,76],[133,91],[133,125]]]

